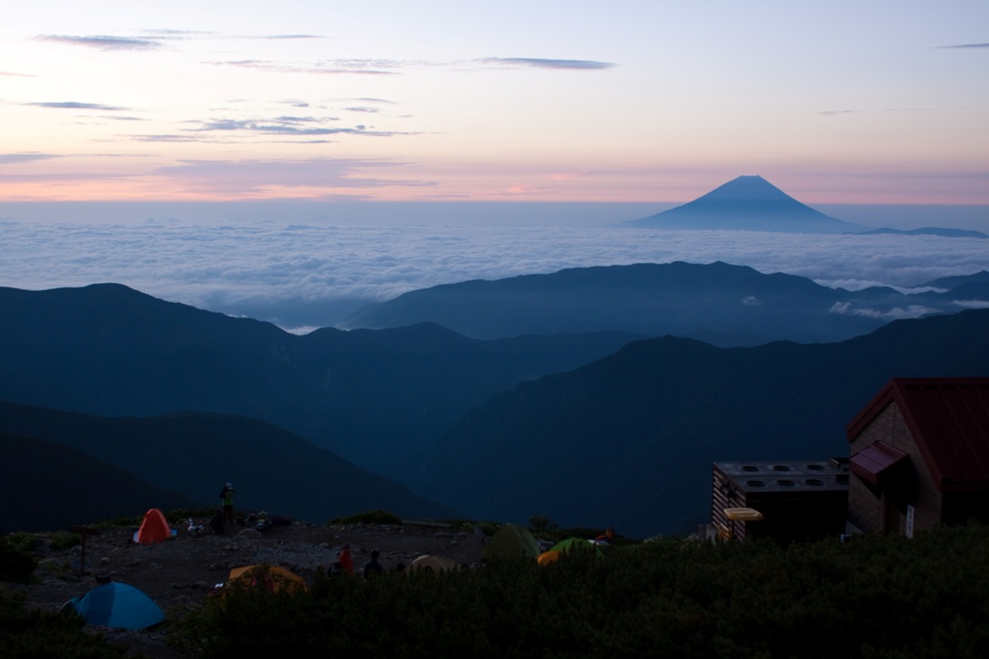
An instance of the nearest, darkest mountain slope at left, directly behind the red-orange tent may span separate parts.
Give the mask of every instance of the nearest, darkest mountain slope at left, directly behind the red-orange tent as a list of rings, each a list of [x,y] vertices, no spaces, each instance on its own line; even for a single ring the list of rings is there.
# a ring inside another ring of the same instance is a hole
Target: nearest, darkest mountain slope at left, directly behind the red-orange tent
[[[29,459],[23,464],[14,459],[18,454],[5,453],[2,480],[12,479],[26,488],[20,497],[5,497],[5,506],[25,497],[35,504],[28,506],[34,513],[30,520],[19,515],[12,521],[12,514],[0,519],[8,524],[30,522],[35,529],[51,529],[42,521],[64,523],[70,513],[75,515],[73,524],[88,524],[141,515],[151,507],[191,507],[187,502],[192,501],[219,507],[217,493],[226,481],[234,483],[236,506],[243,510],[292,515],[317,524],[376,509],[432,519],[455,516],[457,510],[419,497],[281,428],[245,417],[182,412],[107,418],[0,401],[0,433],[18,437],[12,446]],[[7,443],[12,440],[0,447]],[[81,452],[88,461],[49,459],[54,446],[65,458]],[[90,462],[103,463],[103,468]],[[24,482],[27,474],[33,474],[30,484]],[[137,487],[138,479],[146,483],[143,489]],[[39,510],[38,504],[46,509]]]

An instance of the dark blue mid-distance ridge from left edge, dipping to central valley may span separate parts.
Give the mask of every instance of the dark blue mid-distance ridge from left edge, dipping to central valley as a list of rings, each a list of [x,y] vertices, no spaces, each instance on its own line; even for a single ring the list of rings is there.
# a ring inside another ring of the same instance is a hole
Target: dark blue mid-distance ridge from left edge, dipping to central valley
[[[384,472],[495,392],[634,338],[484,342],[434,324],[297,336],[120,285],[0,288],[0,400],[100,416],[241,415]]]

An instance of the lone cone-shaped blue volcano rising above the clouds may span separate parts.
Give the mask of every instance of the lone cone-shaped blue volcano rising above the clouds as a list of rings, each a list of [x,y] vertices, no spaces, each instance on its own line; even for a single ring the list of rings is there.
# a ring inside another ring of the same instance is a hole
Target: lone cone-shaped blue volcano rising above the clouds
[[[692,202],[627,224],[792,233],[846,233],[866,228],[805,206],[761,176],[740,176]]]

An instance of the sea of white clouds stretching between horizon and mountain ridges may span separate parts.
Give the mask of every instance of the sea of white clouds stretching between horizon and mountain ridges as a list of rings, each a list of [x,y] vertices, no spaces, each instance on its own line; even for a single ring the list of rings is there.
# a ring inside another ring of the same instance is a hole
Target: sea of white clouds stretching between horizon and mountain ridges
[[[114,282],[304,332],[415,288],[632,263],[746,265],[841,288],[989,270],[989,240],[628,226],[333,226],[2,220],[0,286]]]

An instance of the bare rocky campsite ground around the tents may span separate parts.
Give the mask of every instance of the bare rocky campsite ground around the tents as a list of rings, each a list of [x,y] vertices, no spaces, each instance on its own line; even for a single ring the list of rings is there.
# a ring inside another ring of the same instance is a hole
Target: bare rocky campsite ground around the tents
[[[381,551],[385,569],[408,565],[422,554],[443,555],[462,564],[476,563],[484,548],[482,536],[419,525],[311,526],[293,523],[263,534],[240,525],[225,534],[207,531],[178,535],[158,544],[132,541],[135,529],[110,529],[86,540],[85,574],[78,576],[79,547],[47,552],[36,571],[40,583],[26,586],[29,606],[54,611],[102,582],[127,583],[143,591],[166,613],[195,606],[225,581],[229,570],[266,563],[285,567],[312,582],[319,567],[329,568],[337,551],[351,545],[354,565],[363,567],[371,551]],[[41,547],[44,551],[45,548]],[[149,659],[176,659],[164,642],[163,630],[127,632],[99,629]]]

